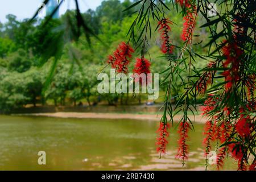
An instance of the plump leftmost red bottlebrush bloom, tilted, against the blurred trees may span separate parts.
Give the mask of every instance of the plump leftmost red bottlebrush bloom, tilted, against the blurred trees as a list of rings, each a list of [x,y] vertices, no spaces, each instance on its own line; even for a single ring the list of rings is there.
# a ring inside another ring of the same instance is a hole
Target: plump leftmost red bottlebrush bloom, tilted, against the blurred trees
[[[115,68],[118,73],[127,73],[130,63],[129,58],[131,58],[133,52],[134,49],[129,44],[122,42],[113,55],[109,55],[107,63],[111,64],[112,68]]]

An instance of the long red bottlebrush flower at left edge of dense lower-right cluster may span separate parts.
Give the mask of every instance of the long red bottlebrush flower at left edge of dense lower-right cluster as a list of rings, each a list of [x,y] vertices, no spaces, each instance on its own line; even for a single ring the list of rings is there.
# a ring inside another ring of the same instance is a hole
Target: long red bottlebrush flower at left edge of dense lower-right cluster
[[[205,155],[207,156],[210,152],[210,142],[214,140],[214,123],[213,121],[207,121],[204,127],[205,138],[203,140],[203,145],[205,146]]]

